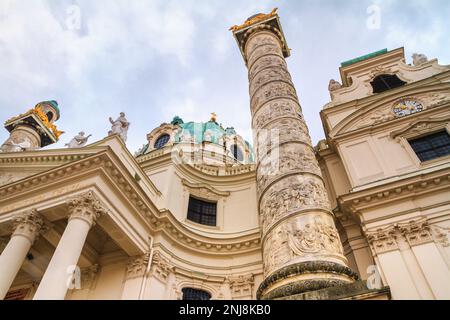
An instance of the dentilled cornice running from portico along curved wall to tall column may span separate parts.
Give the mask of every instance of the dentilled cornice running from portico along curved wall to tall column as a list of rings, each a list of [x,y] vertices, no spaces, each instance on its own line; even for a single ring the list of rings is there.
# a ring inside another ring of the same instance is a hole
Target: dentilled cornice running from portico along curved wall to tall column
[[[146,221],[150,232],[163,233],[181,246],[202,253],[236,254],[261,250],[259,231],[223,239],[205,237],[183,226],[168,211],[160,211],[148,197],[134,176],[119,165],[120,159],[110,148],[98,154],[64,164],[57,168],[24,178],[0,187],[0,207],[6,202],[36,194],[49,185],[73,180],[86,173],[106,175],[134,208],[141,221]],[[147,177],[141,177],[147,183]],[[18,200],[16,200],[18,201]]]

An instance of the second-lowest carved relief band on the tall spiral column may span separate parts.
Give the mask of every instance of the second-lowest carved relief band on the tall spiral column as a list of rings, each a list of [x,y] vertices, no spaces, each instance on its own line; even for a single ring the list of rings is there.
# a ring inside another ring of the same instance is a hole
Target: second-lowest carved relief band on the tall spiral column
[[[309,176],[292,176],[272,185],[263,195],[260,218],[263,234],[284,216],[305,209],[329,208],[323,182]]]

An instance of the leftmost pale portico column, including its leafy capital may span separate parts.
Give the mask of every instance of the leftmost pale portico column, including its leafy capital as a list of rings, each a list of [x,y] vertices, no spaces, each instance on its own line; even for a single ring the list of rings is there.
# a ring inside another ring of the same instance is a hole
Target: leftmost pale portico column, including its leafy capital
[[[14,218],[14,233],[0,256],[0,300],[8,293],[42,226],[36,209]]]

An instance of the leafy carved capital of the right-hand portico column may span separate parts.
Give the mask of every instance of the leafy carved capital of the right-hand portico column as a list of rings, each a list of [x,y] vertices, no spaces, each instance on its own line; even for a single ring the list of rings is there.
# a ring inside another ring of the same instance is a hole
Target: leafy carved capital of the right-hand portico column
[[[95,225],[95,222],[101,215],[108,212],[92,191],[69,199],[66,203],[69,207],[69,221],[81,219],[89,223],[91,227]]]

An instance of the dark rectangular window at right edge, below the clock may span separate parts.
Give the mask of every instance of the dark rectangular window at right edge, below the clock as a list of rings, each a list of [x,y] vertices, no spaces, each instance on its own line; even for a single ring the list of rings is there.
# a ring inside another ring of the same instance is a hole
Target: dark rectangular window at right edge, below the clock
[[[428,161],[450,155],[450,135],[440,131],[409,141],[420,161]]]

